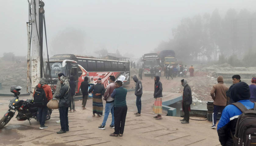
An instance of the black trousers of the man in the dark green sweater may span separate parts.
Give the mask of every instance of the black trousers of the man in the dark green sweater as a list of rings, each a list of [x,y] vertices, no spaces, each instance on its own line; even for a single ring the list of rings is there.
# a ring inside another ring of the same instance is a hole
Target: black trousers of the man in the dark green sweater
[[[114,134],[123,134],[125,118],[127,113],[127,106],[115,107],[114,108],[114,118],[115,118],[115,132]]]

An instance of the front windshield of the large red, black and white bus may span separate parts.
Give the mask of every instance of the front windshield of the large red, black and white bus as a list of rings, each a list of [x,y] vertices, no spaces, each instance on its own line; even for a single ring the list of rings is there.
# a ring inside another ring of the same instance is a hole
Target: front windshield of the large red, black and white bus
[[[45,77],[50,77],[49,76],[49,66],[50,65],[50,69],[51,69],[51,75],[52,78],[58,78],[58,74],[59,73],[64,73],[66,74],[66,67],[62,67],[62,62],[46,62],[46,70],[45,70]]]

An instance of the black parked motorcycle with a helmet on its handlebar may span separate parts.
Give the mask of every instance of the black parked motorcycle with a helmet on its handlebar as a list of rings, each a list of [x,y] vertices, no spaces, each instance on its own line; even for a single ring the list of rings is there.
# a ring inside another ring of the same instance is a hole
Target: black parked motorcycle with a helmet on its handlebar
[[[13,99],[10,101],[9,104],[9,110],[4,114],[4,117],[0,120],[0,128],[3,128],[12,117],[15,115],[15,112],[18,111],[18,114],[16,116],[18,121],[25,121],[28,120],[29,124],[31,125],[30,120],[34,118],[37,120],[37,114],[38,114],[38,107],[35,106],[34,100],[32,99],[24,99],[19,100],[18,95],[20,95],[20,90],[22,87],[20,86],[12,86],[11,92],[14,93]],[[46,120],[50,119],[50,115],[52,114],[52,110],[48,110],[47,118]],[[38,120],[37,120],[38,121]]]

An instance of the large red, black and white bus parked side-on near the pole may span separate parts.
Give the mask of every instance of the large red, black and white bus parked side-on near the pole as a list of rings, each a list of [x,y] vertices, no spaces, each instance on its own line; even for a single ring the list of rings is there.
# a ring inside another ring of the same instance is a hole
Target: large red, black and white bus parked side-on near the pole
[[[64,73],[66,77],[74,76],[76,81],[76,93],[82,95],[80,89],[84,77],[89,73],[90,79],[97,80],[101,78],[102,85],[107,87],[109,75],[115,76],[118,79],[121,75],[125,76],[123,85],[130,84],[130,67],[126,61],[117,60],[102,60],[96,59],[93,56],[83,56],[74,54],[58,54],[50,57],[49,62],[46,61],[46,68],[44,77],[50,83],[50,75],[52,76],[52,84],[56,85],[58,82],[58,74]]]

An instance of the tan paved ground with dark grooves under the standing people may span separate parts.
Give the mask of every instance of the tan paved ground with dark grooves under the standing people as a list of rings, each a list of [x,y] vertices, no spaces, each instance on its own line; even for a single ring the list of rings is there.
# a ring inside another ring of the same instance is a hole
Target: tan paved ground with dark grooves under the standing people
[[[60,130],[58,110],[54,110],[50,120],[46,122],[49,127],[40,130],[39,123],[31,120],[17,121],[13,118],[0,130],[0,145],[2,146],[216,146],[219,145],[216,130],[210,129],[211,123],[207,121],[190,121],[190,124],[181,124],[180,117],[163,116],[163,120],[153,118],[153,93],[145,91],[142,97],[142,116],[135,117],[136,98],[133,92],[127,94],[129,112],[126,116],[123,137],[111,137],[113,129],[111,115],[105,130],[97,127],[102,123],[103,117],[92,117],[92,99],[88,100],[87,109],[82,110],[82,101],[76,101],[77,112],[69,113],[70,132],[56,134]],[[178,93],[163,93],[164,100],[179,96]],[[8,108],[7,99],[0,98],[0,115]]]

